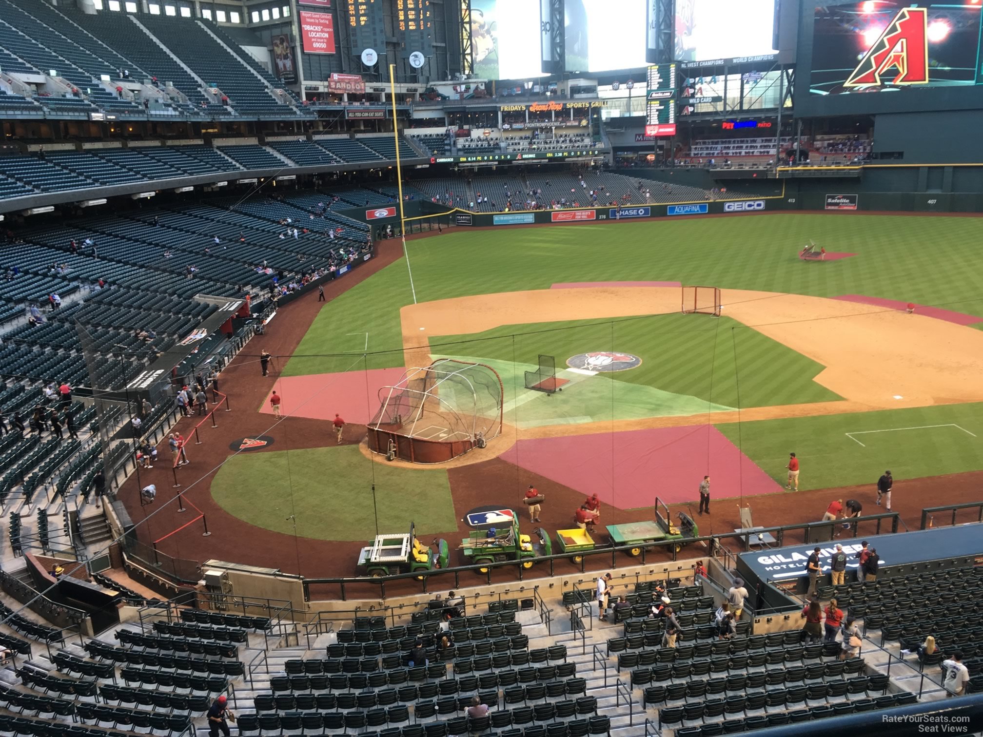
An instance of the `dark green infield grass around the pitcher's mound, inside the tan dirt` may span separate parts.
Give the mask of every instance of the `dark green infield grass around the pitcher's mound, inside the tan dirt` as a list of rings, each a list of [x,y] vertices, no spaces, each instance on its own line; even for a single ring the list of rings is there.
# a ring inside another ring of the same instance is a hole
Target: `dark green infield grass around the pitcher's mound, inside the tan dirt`
[[[440,336],[431,342],[431,349],[434,354],[466,356],[478,362],[509,362],[514,357],[524,364],[535,364],[543,353],[555,357],[557,370],[565,369],[566,360],[580,353],[622,351],[638,356],[642,365],[603,373],[596,379],[651,386],[725,408],[841,399],[812,380],[824,369],[822,365],[755,330],[731,330],[735,326],[743,327],[728,317],[685,314],[536,322],[472,335]],[[739,396],[735,358],[740,369]],[[776,375],[787,379],[777,384]],[[521,375],[519,380],[523,380]]]

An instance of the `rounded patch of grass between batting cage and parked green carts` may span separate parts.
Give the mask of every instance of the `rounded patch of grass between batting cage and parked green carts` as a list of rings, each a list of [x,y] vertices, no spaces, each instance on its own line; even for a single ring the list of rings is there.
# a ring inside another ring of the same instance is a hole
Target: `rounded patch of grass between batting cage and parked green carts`
[[[373,468],[375,466],[375,469]],[[375,476],[373,472],[375,471]],[[376,498],[366,489],[376,485]],[[378,533],[457,529],[447,472],[375,463],[358,447],[239,454],[211,482],[211,496],[234,517],[302,538],[365,540]]]

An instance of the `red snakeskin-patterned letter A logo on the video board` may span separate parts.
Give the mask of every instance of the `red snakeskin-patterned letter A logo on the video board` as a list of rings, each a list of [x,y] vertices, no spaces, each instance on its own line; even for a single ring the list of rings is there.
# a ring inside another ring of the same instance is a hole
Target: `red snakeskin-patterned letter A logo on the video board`
[[[896,69],[894,80],[888,77]],[[870,47],[853,74],[843,83],[847,87],[866,85],[928,84],[928,10],[902,8]]]

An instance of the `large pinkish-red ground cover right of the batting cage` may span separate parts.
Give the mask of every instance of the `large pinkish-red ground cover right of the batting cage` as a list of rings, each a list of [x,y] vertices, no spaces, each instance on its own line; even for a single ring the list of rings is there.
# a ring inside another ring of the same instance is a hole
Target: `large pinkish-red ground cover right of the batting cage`
[[[695,501],[705,474],[712,499],[782,490],[713,425],[519,440],[499,458],[618,509]]]

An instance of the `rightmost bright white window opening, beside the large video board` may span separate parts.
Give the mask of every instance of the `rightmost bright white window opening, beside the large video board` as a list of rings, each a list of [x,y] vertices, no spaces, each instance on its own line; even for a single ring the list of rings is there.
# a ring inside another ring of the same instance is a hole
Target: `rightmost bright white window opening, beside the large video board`
[[[679,61],[775,53],[775,0],[676,0],[675,7]]]

